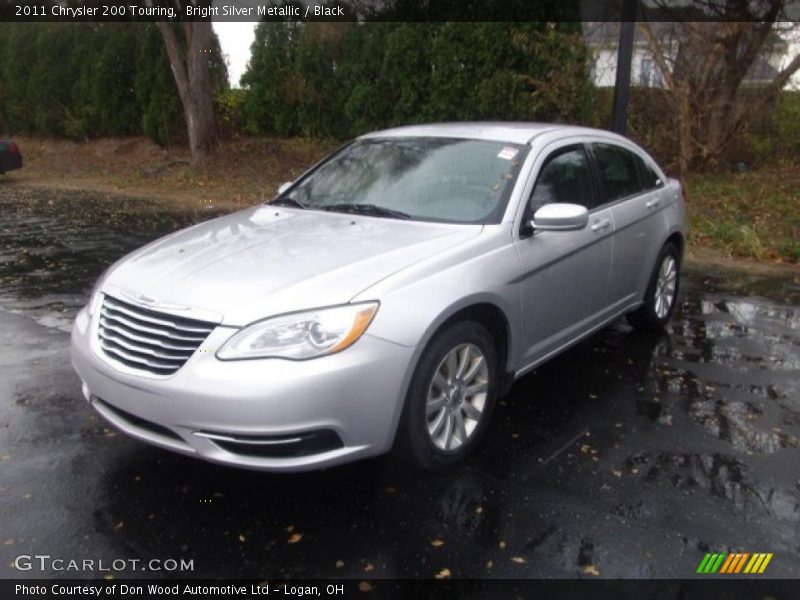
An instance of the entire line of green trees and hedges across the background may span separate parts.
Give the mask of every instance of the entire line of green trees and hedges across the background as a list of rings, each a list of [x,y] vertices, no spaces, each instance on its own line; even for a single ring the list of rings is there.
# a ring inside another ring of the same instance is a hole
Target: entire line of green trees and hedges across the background
[[[346,139],[438,120],[607,127],[613,90],[589,77],[578,22],[261,23],[242,89],[209,54],[223,138]],[[753,93],[757,93],[757,90]],[[676,127],[663,90],[631,90],[629,135],[668,167]],[[0,23],[0,133],[146,135],[186,143],[163,40],[152,23]],[[727,150],[727,164],[793,162],[800,94],[783,92]]]

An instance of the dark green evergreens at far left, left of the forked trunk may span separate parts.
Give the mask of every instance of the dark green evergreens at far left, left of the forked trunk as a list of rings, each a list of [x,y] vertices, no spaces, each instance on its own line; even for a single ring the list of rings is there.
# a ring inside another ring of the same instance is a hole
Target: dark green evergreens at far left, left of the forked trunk
[[[227,88],[217,45],[215,85]],[[183,143],[186,126],[153,23],[0,23],[0,131]]]

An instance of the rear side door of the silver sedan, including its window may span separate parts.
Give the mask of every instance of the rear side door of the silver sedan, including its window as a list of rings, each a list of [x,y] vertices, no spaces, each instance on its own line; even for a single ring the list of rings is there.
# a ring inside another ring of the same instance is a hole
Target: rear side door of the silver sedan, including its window
[[[593,142],[591,153],[601,202],[614,219],[614,260],[609,282],[612,310],[636,302],[647,285],[664,219],[664,182],[638,153],[613,142]]]

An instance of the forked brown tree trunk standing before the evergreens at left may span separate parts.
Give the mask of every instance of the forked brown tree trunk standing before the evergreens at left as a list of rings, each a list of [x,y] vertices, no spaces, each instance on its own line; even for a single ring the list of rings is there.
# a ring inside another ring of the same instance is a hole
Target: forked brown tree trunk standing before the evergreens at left
[[[203,167],[218,144],[208,68],[214,34],[211,21],[184,22],[178,27],[183,32],[184,44],[179,42],[170,23],[158,23],[183,105],[192,165]]]

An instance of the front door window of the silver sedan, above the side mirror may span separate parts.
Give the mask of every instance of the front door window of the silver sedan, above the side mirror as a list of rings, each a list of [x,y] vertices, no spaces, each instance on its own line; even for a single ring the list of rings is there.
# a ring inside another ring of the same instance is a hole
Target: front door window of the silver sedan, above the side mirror
[[[594,206],[592,174],[583,145],[557,150],[539,171],[528,210],[532,215],[551,202],[582,204],[589,209]]]

